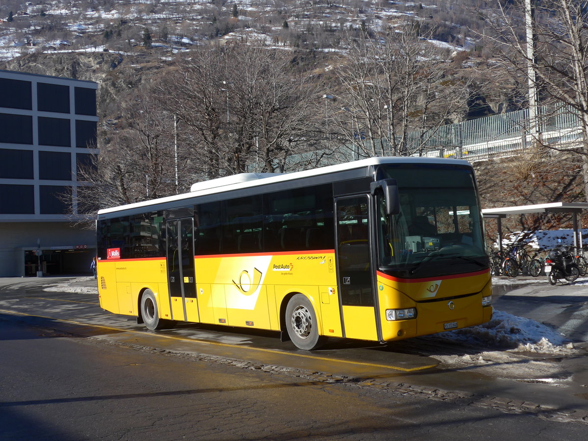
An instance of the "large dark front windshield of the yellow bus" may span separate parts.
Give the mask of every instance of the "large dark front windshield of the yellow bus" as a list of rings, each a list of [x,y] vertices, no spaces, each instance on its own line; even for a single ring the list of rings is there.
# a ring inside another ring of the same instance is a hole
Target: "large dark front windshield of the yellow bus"
[[[488,268],[483,223],[471,168],[455,164],[385,165],[396,179],[400,213],[377,202],[379,268],[399,278],[426,278]]]

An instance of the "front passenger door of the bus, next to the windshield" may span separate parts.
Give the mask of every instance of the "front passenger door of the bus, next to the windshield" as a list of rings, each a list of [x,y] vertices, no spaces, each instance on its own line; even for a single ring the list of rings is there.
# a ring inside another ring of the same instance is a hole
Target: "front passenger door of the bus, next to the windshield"
[[[377,340],[370,203],[367,195],[338,198],[337,265],[344,336]]]

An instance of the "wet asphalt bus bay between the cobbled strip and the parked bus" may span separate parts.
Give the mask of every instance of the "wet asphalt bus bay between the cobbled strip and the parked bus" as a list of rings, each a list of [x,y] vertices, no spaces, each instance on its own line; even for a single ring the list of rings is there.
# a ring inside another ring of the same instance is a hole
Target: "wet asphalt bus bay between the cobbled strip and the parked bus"
[[[503,412],[536,412],[558,420],[588,420],[588,282],[550,286],[542,279],[497,279],[494,305],[513,315],[552,326],[573,342],[573,354],[509,355],[498,371],[480,373],[475,365],[447,368],[436,353],[476,354],[463,348],[419,338],[378,345],[329,340],[312,352],[281,343],[278,333],[202,326],[192,323],[153,333],[132,318],[103,312],[93,292],[92,278],[0,279],[0,315],[72,335],[91,336],[111,344],[231,363],[244,369],[283,372],[327,382],[352,382],[433,399],[468,400]],[[46,291],[44,289],[55,289]],[[78,290],[79,292],[66,292]],[[551,379],[512,378],[516,364],[549,364]],[[538,361],[537,361],[538,360]],[[549,381],[549,380],[557,381]]]

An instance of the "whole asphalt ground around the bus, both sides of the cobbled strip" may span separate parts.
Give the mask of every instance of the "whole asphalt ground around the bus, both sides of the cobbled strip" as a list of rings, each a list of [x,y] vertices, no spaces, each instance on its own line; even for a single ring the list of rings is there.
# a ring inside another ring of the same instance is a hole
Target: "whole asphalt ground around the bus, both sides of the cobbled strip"
[[[145,332],[44,283],[0,280],[0,439],[584,439],[584,352],[550,361],[572,376],[553,387],[444,369],[409,343],[306,352],[275,333]],[[500,288],[496,305],[583,336],[588,288],[544,285]]]

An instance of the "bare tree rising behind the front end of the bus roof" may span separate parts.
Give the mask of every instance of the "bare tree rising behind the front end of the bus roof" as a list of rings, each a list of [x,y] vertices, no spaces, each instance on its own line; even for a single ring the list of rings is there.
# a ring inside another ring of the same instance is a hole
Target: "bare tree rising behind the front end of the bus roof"
[[[415,22],[347,42],[348,59],[337,69],[341,93],[329,117],[365,155],[422,153],[464,105],[463,79],[449,76],[447,56]]]

